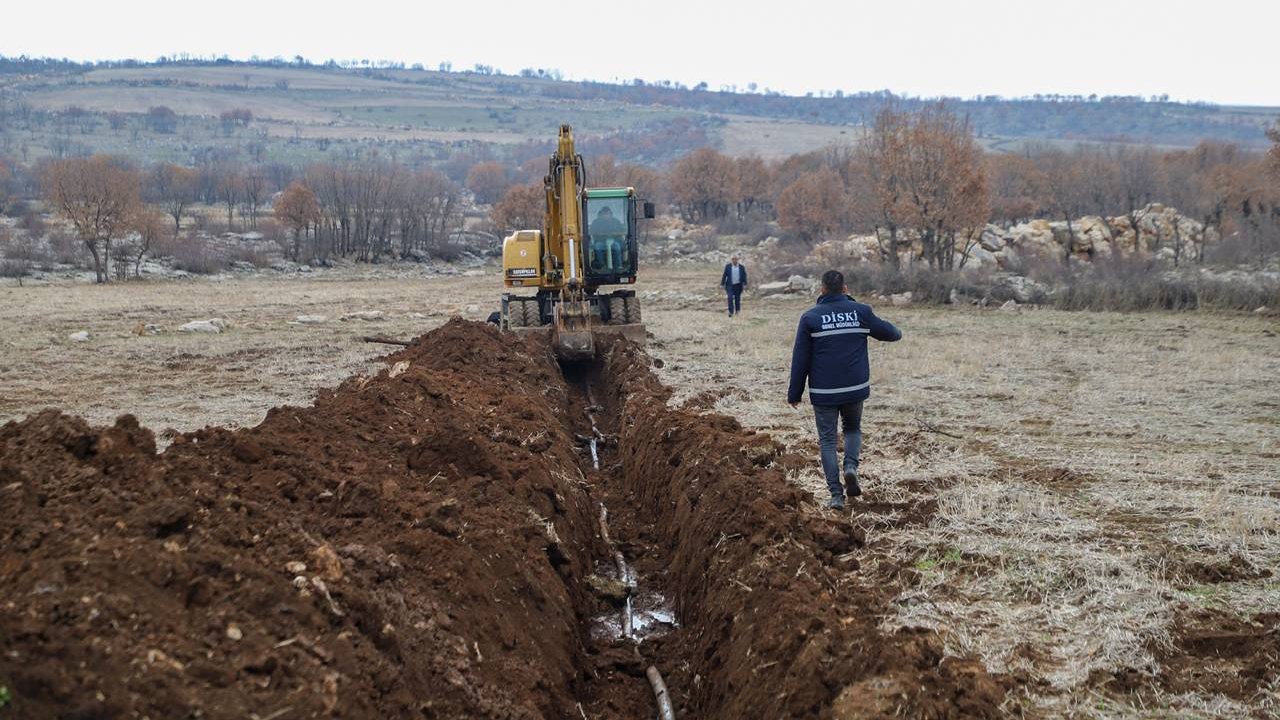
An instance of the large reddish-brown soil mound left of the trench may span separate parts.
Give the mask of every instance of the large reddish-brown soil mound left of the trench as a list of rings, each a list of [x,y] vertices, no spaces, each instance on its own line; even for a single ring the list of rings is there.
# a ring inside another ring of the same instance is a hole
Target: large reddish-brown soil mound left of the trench
[[[128,416],[0,429],[14,716],[576,714],[594,515],[554,359],[452,323],[392,360],[160,455]]]

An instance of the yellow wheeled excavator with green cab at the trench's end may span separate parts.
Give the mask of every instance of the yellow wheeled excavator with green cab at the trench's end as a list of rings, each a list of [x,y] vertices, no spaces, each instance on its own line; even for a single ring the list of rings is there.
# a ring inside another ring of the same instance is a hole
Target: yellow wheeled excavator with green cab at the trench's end
[[[562,360],[595,356],[595,336],[621,334],[644,342],[635,290],[600,288],[636,282],[636,223],[654,217],[653,202],[634,187],[586,187],[586,167],[573,150],[573,132],[561,126],[547,177],[547,213],[540,231],[516,231],[502,241],[499,327],[549,334]]]

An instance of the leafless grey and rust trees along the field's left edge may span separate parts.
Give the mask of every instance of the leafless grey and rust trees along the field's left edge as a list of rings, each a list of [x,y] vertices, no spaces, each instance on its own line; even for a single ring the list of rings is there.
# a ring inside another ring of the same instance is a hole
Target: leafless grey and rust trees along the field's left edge
[[[227,229],[255,231],[271,218],[288,232],[282,251],[300,261],[448,255],[457,250],[468,202],[463,187],[440,170],[379,158],[301,169],[234,163],[140,168],[92,155],[45,160],[22,179],[70,225],[97,282],[109,281],[125,260],[136,274],[157,238],[178,240],[192,223],[207,222],[210,211],[224,214]],[[0,161],[0,187],[13,186]],[[5,197],[0,192],[0,211]]]

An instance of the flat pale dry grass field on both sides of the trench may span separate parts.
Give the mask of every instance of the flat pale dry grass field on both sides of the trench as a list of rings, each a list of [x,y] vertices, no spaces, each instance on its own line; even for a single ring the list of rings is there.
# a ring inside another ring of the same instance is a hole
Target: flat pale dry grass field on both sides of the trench
[[[785,404],[808,300],[748,297],[730,320],[717,277],[649,268],[639,287],[672,402],[815,455],[812,413]],[[55,406],[99,424],[133,413],[157,433],[255,424],[389,350],[360,336],[483,319],[498,286],[492,272],[412,269],[3,284],[0,421]],[[384,316],[339,319],[361,310]],[[881,313],[904,340],[873,347],[860,503],[919,518],[864,528],[863,573],[914,568],[882,623],[936,629],[950,652],[1011,676],[1010,715],[1280,715],[1280,680],[1242,692],[1235,678],[1257,659],[1224,650],[1277,632],[1275,318]],[[174,332],[215,316],[227,332]],[[137,336],[138,323],[165,332]],[[91,340],[68,340],[77,331]],[[817,460],[794,480],[823,512]]]

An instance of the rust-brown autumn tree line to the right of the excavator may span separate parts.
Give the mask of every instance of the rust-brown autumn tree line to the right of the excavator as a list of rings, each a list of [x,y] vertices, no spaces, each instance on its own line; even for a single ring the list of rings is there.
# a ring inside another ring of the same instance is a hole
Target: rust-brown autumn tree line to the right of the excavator
[[[778,163],[698,150],[659,184],[689,222],[777,220],[800,243],[874,233],[893,264],[916,237],[929,266],[952,269],[987,223],[1065,220],[1074,234],[1084,215],[1126,215],[1137,225],[1155,202],[1266,259],[1280,252],[1280,124],[1268,137],[1268,152],[1216,141],[1187,150],[1028,143],[984,152],[966,118],[932,105],[881,110],[856,141]]]

